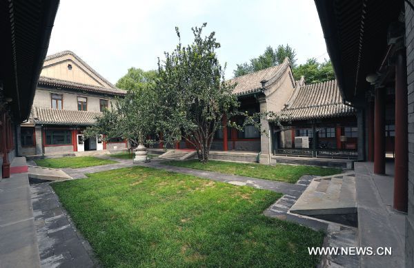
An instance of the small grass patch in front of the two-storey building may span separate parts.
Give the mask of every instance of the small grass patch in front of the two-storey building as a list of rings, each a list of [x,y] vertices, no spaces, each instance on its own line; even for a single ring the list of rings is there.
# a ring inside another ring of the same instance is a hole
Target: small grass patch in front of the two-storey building
[[[66,156],[61,158],[46,158],[34,160],[40,167],[62,168],[62,167],[92,167],[94,165],[107,165],[117,163],[116,161],[97,158],[94,156]]]

